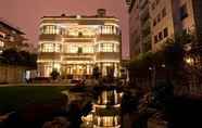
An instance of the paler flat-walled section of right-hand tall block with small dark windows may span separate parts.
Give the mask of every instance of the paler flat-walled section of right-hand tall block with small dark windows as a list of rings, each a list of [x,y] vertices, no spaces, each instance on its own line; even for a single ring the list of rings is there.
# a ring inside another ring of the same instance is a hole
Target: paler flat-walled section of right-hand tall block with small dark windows
[[[161,49],[167,38],[182,31],[200,34],[198,0],[150,0],[152,48]],[[198,4],[195,4],[198,3]]]

